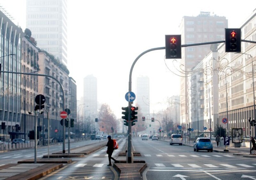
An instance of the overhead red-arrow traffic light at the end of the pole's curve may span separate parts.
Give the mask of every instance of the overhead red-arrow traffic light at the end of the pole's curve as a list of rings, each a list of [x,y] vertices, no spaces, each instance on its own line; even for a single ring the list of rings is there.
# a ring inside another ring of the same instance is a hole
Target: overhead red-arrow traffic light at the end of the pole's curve
[[[181,59],[181,35],[165,35],[165,58]]]

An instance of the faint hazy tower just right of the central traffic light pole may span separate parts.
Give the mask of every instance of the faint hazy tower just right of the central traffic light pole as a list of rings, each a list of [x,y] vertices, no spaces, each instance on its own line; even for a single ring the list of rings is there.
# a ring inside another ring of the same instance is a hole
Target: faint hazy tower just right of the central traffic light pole
[[[137,78],[136,101],[137,105],[140,107],[139,111],[142,116],[149,116],[149,78],[147,76],[140,76]]]

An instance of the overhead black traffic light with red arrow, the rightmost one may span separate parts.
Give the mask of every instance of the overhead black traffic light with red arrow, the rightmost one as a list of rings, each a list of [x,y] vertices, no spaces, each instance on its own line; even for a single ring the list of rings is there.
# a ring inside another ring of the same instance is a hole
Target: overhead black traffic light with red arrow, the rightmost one
[[[241,29],[225,29],[226,52],[241,52]]]

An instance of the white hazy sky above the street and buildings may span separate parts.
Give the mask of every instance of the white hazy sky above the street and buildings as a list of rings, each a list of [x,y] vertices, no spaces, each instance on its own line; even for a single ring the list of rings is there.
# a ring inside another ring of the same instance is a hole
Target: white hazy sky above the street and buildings
[[[0,4],[24,31],[26,0],[0,0]],[[128,105],[124,95],[133,61],[145,50],[164,47],[165,34],[180,34],[183,16],[209,11],[225,16],[229,28],[239,28],[255,8],[255,0],[68,0],[68,69],[76,80],[78,100],[83,96],[84,77],[93,74],[98,79],[98,101],[121,118],[121,107]],[[159,102],[180,92],[180,78],[166,68],[164,55],[164,50],[149,52],[133,68],[135,94],[136,78],[150,79],[152,113],[165,108]],[[172,60],[166,63],[172,68]]]

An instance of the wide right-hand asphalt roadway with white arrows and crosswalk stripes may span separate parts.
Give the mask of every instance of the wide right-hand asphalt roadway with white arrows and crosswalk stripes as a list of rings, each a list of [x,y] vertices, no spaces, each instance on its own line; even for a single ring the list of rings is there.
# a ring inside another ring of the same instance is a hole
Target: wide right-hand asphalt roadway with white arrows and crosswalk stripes
[[[133,147],[141,153],[148,168],[143,179],[256,179],[255,158],[232,153],[199,151],[193,147],[170,145],[169,142],[133,138]]]

